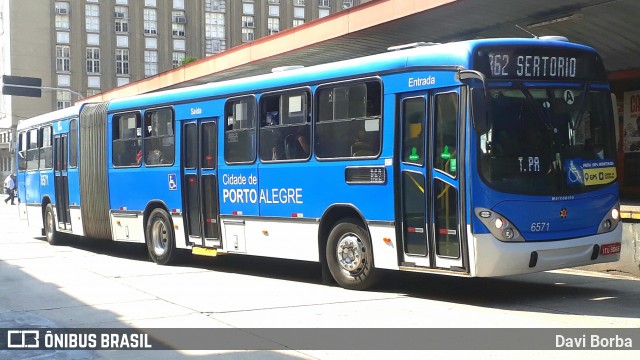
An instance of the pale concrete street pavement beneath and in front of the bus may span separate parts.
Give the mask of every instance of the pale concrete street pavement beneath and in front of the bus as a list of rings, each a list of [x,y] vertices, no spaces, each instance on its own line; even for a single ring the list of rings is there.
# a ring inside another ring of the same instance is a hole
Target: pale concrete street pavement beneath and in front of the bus
[[[225,256],[158,266],[141,245],[27,234],[0,202],[0,328],[640,328],[640,282],[585,271],[498,279],[385,273],[367,292],[321,284],[319,266]],[[638,330],[640,331],[640,330]],[[171,339],[168,339],[169,343]],[[527,339],[522,339],[527,341]],[[285,344],[286,345],[286,344]],[[638,349],[640,344],[634,344]],[[37,353],[0,358],[397,358],[397,351],[229,350]],[[401,357],[451,356],[404,351]],[[474,358],[637,358],[639,351],[473,351]]]

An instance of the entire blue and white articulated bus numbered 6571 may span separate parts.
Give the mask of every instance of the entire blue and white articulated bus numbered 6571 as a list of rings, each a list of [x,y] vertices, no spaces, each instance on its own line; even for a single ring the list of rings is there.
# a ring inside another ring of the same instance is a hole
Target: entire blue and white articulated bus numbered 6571
[[[604,66],[559,39],[412,44],[18,126],[20,212],[179,252],[468,277],[617,261]]]

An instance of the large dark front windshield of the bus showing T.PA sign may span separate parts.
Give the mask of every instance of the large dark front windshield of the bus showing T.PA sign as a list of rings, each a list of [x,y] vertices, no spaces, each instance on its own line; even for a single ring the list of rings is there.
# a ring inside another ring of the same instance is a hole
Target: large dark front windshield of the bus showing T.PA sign
[[[479,171],[492,188],[529,195],[585,193],[616,180],[609,92],[584,87],[490,88]]]

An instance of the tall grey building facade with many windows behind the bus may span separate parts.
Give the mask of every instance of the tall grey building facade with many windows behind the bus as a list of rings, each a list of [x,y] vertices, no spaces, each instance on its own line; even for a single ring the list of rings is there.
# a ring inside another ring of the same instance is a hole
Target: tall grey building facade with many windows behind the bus
[[[0,177],[23,118],[370,0],[3,0],[2,75],[42,79],[40,98],[3,95]]]

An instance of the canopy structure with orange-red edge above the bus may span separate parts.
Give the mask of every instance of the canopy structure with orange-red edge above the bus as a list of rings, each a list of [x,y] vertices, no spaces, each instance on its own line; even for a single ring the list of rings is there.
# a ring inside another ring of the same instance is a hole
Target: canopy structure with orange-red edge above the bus
[[[418,41],[444,43],[533,36],[527,32],[565,36],[592,46],[602,55],[609,73],[622,72],[640,68],[637,29],[637,0],[374,0],[261,38],[255,44],[201,59],[184,69],[129,84],[125,86],[128,91],[117,88],[94,98],[106,100],[229,80],[264,74],[282,66],[311,66],[385,52],[391,46]],[[291,44],[295,41],[303,44],[296,47]],[[259,54],[265,51],[269,54]],[[249,55],[238,57],[242,52]],[[240,58],[243,60],[234,63]]]

